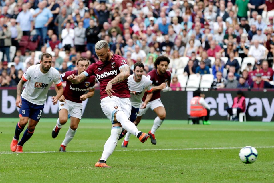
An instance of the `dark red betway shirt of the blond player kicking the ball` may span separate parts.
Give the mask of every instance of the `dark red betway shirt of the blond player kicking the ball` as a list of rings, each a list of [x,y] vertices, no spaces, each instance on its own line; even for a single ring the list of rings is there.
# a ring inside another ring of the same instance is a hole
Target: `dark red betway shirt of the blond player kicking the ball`
[[[110,80],[116,77],[120,73],[120,69],[125,66],[128,66],[126,59],[119,55],[113,54],[110,61],[102,62],[99,60],[98,62],[88,66],[86,71],[83,73],[86,77],[95,75],[95,77],[99,80],[100,95],[101,99],[103,99],[108,96],[106,93],[106,85]],[[129,98],[130,94],[128,89],[128,79],[112,85],[112,90],[115,92],[112,93],[113,96],[117,96],[119,98]]]

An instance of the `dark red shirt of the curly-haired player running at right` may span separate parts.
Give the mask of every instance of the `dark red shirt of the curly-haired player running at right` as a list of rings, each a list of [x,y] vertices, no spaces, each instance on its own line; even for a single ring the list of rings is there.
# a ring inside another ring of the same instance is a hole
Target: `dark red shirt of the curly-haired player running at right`
[[[161,85],[162,83],[165,83],[165,82],[167,82],[167,81],[170,81],[170,76],[171,76],[171,74],[170,74],[169,71],[166,71],[166,73],[165,73],[163,76],[159,75],[159,74],[157,73],[157,69],[154,69],[154,70],[150,71],[150,72],[148,73],[148,75],[147,75],[147,77],[152,81],[152,87],[154,87],[154,86],[159,86],[159,85]],[[160,97],[161,97],[160,92],[161,92],[161,90],[156,90],[156,91],[152,92],[153,95],[152,95],[150,101],[153,101],[153,100],[155,100],[155,99],[157,99],[157,98],[160,98]],[[145,93],[145,94],[144,94],[144,96],[143,96],[143,98],[142,98],[142,101],[143,101],[143,102],[146,100],[146,95],[147,95],[147,94],[148,94],[148,93]]]

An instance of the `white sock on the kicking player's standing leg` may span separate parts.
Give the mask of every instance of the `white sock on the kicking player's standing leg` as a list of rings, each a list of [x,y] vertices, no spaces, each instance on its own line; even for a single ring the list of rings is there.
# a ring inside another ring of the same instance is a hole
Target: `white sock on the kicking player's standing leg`
[[[114,149],[117,146],[117,142],[120,134],[122,133],[122,127],[114,126],[111,128],[111,135],[104,145],[104,151],[101,157],[101,160],[107,160],[108,157],[113,153]]]

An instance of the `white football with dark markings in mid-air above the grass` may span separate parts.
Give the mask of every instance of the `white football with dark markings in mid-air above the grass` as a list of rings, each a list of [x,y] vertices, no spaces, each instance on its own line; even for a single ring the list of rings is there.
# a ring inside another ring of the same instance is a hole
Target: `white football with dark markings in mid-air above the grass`
[[[251,164],[257,160],[258,151],[251,146],[245,146],[239,153],[240,160],[243,163]]]

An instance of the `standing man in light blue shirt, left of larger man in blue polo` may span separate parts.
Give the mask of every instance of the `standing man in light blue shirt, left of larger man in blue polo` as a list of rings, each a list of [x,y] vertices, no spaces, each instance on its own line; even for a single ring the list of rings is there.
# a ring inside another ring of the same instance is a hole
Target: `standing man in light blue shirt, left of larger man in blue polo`
[[[18,14],[16,22],[23,31],[23,36],[29,36],[33,30],[33,16],[29,12],[26,4],[22,5],[22,11]]]

